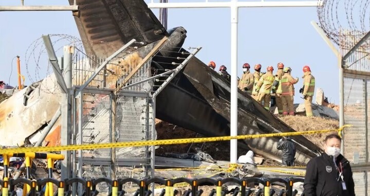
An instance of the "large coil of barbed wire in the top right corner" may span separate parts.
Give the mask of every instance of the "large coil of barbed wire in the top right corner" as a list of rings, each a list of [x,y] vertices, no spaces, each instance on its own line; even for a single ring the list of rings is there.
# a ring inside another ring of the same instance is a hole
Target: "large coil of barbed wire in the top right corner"
[[[351,48],[370,30],[370,1],[322,0],[317,9],[321,28],[341,48]],[[370,47],[370,40],[361,46]]]

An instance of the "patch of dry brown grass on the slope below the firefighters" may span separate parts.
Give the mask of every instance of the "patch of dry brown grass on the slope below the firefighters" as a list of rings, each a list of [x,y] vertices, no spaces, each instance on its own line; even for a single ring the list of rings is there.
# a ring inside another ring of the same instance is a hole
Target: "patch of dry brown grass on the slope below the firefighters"
[[[313,130],[335,130],[339,128],[339,121],[330,118],[306,117],[306,116],[284,116],[280,117],[295,131],[313,131]],[[333,133],[337,133],[333,131]],[[304,135],[307,139],[323,148],[325,136],[330,133],[319,133]]]

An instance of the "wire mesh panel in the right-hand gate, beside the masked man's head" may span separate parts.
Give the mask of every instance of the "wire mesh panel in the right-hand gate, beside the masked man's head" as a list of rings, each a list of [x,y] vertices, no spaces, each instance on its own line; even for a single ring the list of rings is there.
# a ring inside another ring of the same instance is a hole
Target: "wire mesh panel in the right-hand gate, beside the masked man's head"
[[[344,132],[344,155],[350,162],[366,162],[365,81],[344,78],[344,122],[352,124]]]

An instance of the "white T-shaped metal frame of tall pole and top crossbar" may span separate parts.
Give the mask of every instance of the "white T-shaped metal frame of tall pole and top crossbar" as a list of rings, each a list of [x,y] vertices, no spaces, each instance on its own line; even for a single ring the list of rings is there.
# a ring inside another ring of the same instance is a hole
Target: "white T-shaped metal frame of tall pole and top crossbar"
[[[149,8],[230,8],[231,10],[231,109],[230,109],[230,136],[237,135],[237,42],[238,42],[238,9],[241,7],[317,7],[322,6],[321,1],[286,2],[286,1],[254,1],[238,2],[178,2],[178,3],[155,3],[148,4]],[[230,140],[230,163],[237,160],[237,140]]]

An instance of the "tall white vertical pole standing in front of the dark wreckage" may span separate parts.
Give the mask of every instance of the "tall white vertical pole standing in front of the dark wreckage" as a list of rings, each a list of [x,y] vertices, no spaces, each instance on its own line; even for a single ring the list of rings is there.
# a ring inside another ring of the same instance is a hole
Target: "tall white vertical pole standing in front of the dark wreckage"
[[[230,97],[230,136],[237,135],[237,0],[231,1],[231,97]],[[230,163],[236,163],[237,139],[230,140]]]

